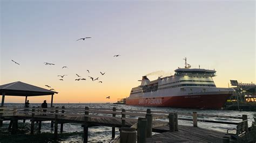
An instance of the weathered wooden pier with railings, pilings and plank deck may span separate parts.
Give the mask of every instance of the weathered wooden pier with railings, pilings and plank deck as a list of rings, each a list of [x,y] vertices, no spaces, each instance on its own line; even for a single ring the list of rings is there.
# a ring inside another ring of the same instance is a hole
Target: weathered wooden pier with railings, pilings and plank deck
[[[31,121],[31,131],[33,134],[35,125],[38,125],[38,132],[41,130],[43,121],[52,121],[54,124],[54,137],[58,138],[58,124],[60,124],[60,133],[65,130],[63,124],[78,123],[84,128],[84,142],[88,141],[90,135],[88,128],[92,126],[109,126],[112,127],[112,138],[115,138],[114,128],[120,128],[120,137],[116,138],[116,142],[136,142],[129,137],[137,137],[138,142],[178,142],[178,141],[194,141],[194,142],[222,142],[223,139],[230,140],[230,135],[223,132],[205,130],[198,127],[197,121],[219,124],[233,124],[236,122],[217,121],[198,119],[197,117],[218,117],[218,118],[235,118],[246,121],[247,116],[217,116],[217,115],[200,115],[193,113],[177,113],[177,112],[161,112],[147,110],[125,110],[113,108],[0,108],[0,118],[2,120],[10,120],[9,128],[15,132],[18,128],[18,121],[28,119]],[[46,110],[46,111],[45,111]],[[26,112],[25,112],[26,111]],[[188,118],[179,118],[178,115],[188,116]],[[164,121],[163,121],[164,120]],[[178,120],[193,121],[191,126],[178,125]],[[39,124],[35,124],[37,121]],[[136,131],[137,130],[137,131]],[[152,135],[152,132],[160,134]],[[225,138],[223,138],[225,137]]]

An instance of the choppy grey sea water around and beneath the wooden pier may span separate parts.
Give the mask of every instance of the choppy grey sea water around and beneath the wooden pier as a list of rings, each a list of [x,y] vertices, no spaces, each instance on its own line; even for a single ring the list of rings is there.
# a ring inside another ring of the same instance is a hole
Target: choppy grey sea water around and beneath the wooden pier
[[[30,106],[40,106],[41,104],[33,104]],[[126,109],[126,110],[146,110],[150,108],[151,111],[165,111],[165,112],[178,112],[178,113],[192,113],[197,112],[198,114],[206,114],[206,115],[223,115],[223,116],[235,116],[241,117],[242,115],[247,115],[248,117],[248,125],[252,125],[253,115],[255,112],[252,111],[230,111],[230,110],[201,110],[201,109],[184,109],[184,108],[156,108],[156,107],[142,107],[142,106],[127,106],[127,105],[115,105],[115,104],[53,104],[55,107],[58,106],[61,108],[65,106],[65,108],[84,108],[85,106],[89,106],[89,108],[108,108],[112,109],[116,107],[117,109]],[[5,106],[8,107],[23,107],[24,104],[12,104],[7,103]],[[192,116],[181,116],[181,118],[192,118]],[[198,119],[207,119],[207,120],[218,120],[218,121],[231,121],[231,122],[239,122],[241,119],[227,119],[227,118],[212,118],[212,117],[204,117]],[[168,121],[167,119],[161,119],[163,121]],[[192,121],[178,120],[179,125],[188,125],[193,126]],[[26,120],[26,123],[23,123],[22,120],[19,121],[19,132],[21,134],[29,134],[30,133],[30,121]],[[0,135],[5,134],[9,135],[8,137],[12,137],[10,132],[8,131],[9,121],[3,122],[3,127],[0,127]],[[217,130],[220,132],[226,132],[228,128],[235,128],[235,125],[227,125],[227,124],[215,124],[215,123],[204,123],[198,122],[198,127],[206,128],[209,130]],[[60,127],[58,127],[59,129]],[[89,127],[89,141],[100,141],[100,142],[109,142],[111,141],[112,128],[106,126],[96,126]],[[42,121],[42,129],[41,133],[50,133],[53,134],[54,130],[51,128],[50,121]],[[37,133],[37,124],[35,124],[35,134]],[[119,135],[119,130],[116,128],[116,137]],[[41,140],[44,137],[41,137]],[[47,138],[47,137],[45,137]],[[59,141],[82,141],[83,140],[83,127],[80,124],[74,123],[65,123],[63,127],[63,135],[60,135]],[[1,139],[0,139],[1,141]]]

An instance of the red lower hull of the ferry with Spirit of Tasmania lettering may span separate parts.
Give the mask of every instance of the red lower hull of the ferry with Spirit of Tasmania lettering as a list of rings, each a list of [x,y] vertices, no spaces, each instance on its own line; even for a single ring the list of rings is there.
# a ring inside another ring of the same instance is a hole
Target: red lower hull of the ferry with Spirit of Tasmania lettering
[[[220,109],[231,94],[222,95],[194,95],[156,98],[126,98],[126,105],[163,106],[176,108],[205,108]]]

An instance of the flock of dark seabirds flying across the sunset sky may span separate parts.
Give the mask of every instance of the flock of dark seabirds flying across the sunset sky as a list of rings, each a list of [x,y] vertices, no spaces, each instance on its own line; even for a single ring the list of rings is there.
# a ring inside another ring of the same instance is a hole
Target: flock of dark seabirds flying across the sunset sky
[[[76,41],[85,40],[85,39],[89,39],[89,38],[92,38],[92,37],[80,38],[80,39],[77,39]],[[114,55],[113,57],[118,57],[118,56],[120,56],[120,55]],[[14,60],[11,60],[11,61],[14,62],[14,63],[16,63],[17,65],[20,65],[18,62],[14,61]],[[53,65],[53,66],[54,66],[55,63],[44,62],[44,65]],[[68,68],[68,67],[63,66],[62,68]],[[87,69],[87,71],[88,71],[88,73],[90,73],[90,71],[89,71],[88,69]],[[102,71],[100,71],[99,73],[100,73],[102,76],[105,75],[105,73],[103,73]],[[77,75],[77,77],[81,77],[81,76],[79,76],[78,74],[76,74],[76,75]],[[63,80],[64,76],[68,76],[68,75],[58,75],[58,76],[61,77],[61,78],[59,79],[60,81],[64,81],[64,80]],[[94,77],[91,77],[91,76],[88,76],[88,77],[90,77],[90,79],[91,79],[92,81],[99,80],[99,77],[97,77],[97,78],[94,78]],[[75,81],[80,81],[80,80],[81,80],[81,81],[85,81],[86,78],[76,78],[76,79],[75,79]],[[102,83],[102,81],[99,81],[99,83]],[[55,89],[51,88],[49,85],[45,85],[45,87],[50,88],[49,90],[55,90]],[[110,99],[110,96],[107,96],[106,98]]]

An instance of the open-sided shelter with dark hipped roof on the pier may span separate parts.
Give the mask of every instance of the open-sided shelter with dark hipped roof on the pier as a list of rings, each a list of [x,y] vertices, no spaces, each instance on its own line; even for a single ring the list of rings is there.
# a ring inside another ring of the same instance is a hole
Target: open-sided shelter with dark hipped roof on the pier
[[[54,94],[58,94],[58,92],[44,89],[44,88],[39,88],[39,87],[36,87],[35,85],[23,83],[20,81],[0,85],[0,95],[2,95],[1,106],[4,106],[5,96],[24,96],[25,102],[26,102],[26,99],[28,98],[28,96],[43,96],[43,95],[51,95],[51,106],[52,106]]]

